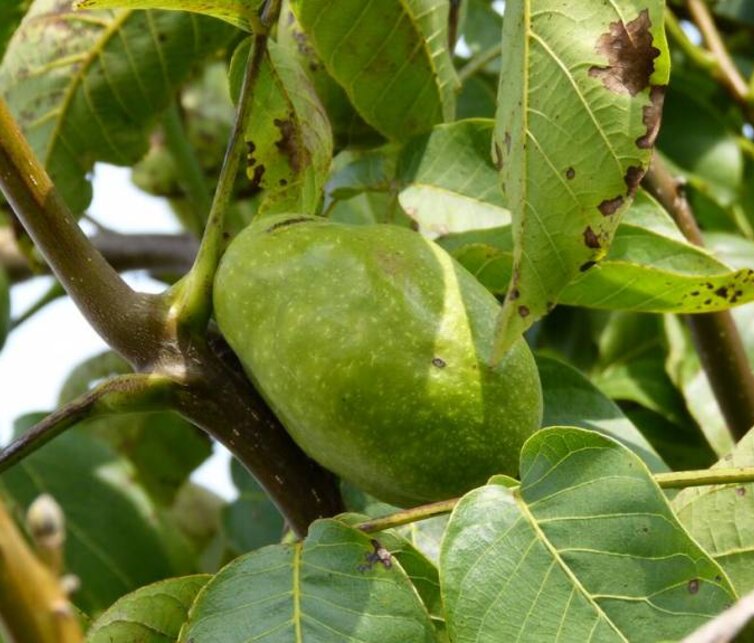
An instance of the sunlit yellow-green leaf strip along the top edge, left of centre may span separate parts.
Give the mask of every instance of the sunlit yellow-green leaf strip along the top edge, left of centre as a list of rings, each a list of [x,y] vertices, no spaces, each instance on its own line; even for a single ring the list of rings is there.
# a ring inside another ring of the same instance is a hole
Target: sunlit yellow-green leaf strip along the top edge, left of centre
[[[251,31],[249,15],[258,11],[264,0],[76,0],[76,9],[166,9],[193,11],[225,20]]]

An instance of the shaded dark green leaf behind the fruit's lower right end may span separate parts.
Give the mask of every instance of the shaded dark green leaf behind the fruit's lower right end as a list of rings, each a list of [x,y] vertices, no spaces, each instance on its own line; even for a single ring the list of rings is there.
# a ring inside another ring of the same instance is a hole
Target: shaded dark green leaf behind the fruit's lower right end
[[[574,426],[611,437],[638,455],[650,471],[667,471],[652,445],[617,404],[575,368],[537,355],[542,381],[542,426]]]

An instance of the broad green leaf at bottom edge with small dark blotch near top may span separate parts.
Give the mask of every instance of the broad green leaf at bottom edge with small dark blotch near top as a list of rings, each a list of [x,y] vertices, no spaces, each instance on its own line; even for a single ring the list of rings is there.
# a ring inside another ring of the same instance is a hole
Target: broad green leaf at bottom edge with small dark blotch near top
[[[303,543],[236,559],[199,594],[179,640],[434,641],[400,563],[377,560],[364,533],[320,520]]]

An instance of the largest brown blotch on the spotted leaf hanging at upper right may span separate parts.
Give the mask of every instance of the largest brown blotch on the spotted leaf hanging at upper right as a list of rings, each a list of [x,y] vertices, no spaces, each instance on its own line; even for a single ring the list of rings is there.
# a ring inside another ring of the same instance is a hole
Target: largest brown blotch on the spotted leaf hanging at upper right
[[[649,86],[660,50],[652,46],[652,23],[644,9],[629,23],[610,23],[610,29],[597,41],[597,51],[607,58],[605,66],[595,65],[589,75],[602,80],[610,91],[636,96]]]

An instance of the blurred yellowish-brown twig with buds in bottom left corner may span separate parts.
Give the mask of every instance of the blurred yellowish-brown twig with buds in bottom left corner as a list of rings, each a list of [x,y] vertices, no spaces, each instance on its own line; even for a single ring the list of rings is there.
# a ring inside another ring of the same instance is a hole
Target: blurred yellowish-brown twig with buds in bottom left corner
[[[60,579],[37,559],[0,504],[0,618],[16,643],[79,643]]]

